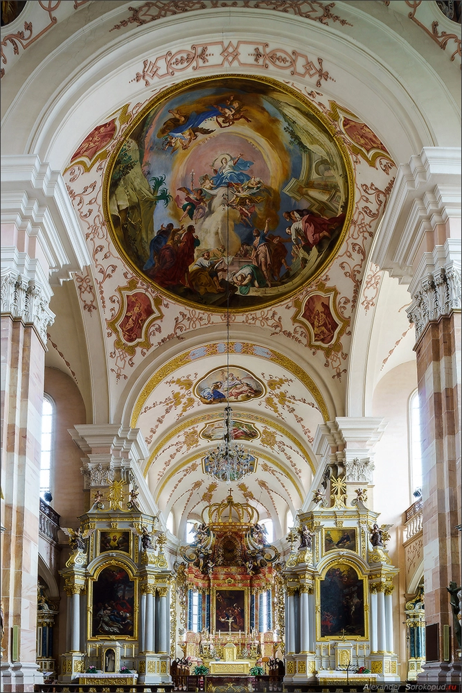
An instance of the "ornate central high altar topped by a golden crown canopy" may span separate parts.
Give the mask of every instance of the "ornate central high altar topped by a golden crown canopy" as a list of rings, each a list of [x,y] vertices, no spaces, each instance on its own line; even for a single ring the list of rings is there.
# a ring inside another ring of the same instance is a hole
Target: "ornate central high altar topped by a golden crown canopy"
[[[230,492],[204,509],[195,541],[180,552],[187,563],[179,566],[187,595],[184,656],[211,674],[233,676],[274,658],[284,634],[281,565],[256,509]]]

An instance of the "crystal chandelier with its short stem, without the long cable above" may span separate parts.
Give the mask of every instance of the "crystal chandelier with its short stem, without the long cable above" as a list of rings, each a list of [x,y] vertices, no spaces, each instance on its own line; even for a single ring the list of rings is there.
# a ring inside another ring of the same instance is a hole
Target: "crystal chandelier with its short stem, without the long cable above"
[[[223,437],[217,447],[204,457],[204,469],[217,481],[231,484],[254,471],[255,457],[234,440],[233,410],[229,405],[224,407],[223,418]]]

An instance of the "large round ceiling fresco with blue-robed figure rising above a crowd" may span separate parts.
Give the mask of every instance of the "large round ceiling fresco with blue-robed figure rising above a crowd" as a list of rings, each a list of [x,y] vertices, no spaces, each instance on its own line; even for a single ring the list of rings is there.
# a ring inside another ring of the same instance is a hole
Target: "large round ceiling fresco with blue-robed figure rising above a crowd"
[[[325,270],[348,228],[353,173],[331,130],[274,80],[199,78],[163,91],[109,161],[114,242],[179,301],[281,301]]]

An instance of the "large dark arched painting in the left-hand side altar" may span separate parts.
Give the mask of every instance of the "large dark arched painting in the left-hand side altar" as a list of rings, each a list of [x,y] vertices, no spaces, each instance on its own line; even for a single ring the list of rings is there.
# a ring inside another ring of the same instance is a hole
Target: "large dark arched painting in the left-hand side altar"
[[[134,581],[119,565],[109,565],[93,585],[91,636],[134,637]]]

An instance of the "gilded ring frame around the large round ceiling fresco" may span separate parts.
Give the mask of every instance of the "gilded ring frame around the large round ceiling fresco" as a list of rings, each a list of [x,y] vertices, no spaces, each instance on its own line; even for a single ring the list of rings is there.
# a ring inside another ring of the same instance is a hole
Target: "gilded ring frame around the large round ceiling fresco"
[[[137,126],[141,121],[145,118],[145,116],[148,115],[154,107],[159,105],[161,102],[166,101],[168,99],[171,99],[178,94],[181,93],[181,91],[186,91],[186,89],[193,87],[195,85],[213,85],[213,82],[219,83],[223,80],[224,76],[223,75],[215,75],[215,76],[207,76],[207,77],[197,77],[197,78],[192,78],[189,80],[184,80],[182,82],[179,82],[177,85],[172,85],[171,87],[167,87],[166,89],[163,89],[159,91],[159,94],[154,96],[141,110],[138,114],[136,114],[135,118],[133,119],[131,125],[123,132],[123,137],[120,139],[120,141],[117,143],[117,146],[114,148],[111,157],[109,157],[109,161],[107,163],[107,167],[105,170],[105,175],[103,179],[103,215],[105,217],[106,223],[107,223],[107,228],[109,229],[109,236],[111,237],[112,243],[116,246],[116,249],[118,251],[118,254],[121,255],[121,257],[124,259],[125,263],[127,264],[128,267],[132,270],[134,274],[136,274],[139,279],[141,279],[143,282],[148,282],[152,283],[152,286],[157,288],[161,294],[166,295],[170,299],[177,301],[179,304],[183,304],[188,306],[189,308],[194,308],[197,309],[197,304],[193,301],[190,301],[188,299],[185,299],[184,297],[178,296],[172,292],[170,292],[168,289],[163,288],[163,287],[158,287],[156,283],[152,282],[149,277],[147,277],[141,270],[139,270],[138,267],[130,260],[130,258],[127,256],[127,253],[125,252],[125,249],[123,248],[122,244],[120,243],[120,240],[117,237],[116,231],[114,229],[114,225],[112,222],[112,215],[109,211],[109,185],[110,181],[112,178],[112,173],[114,170],[114,166],[116,164],[119,152],[121,151],[121,148],[123,146],[123,143],[125,142],[125,139],[136,130]],[[332,252],[329,254],[329,256],[326,258],[326,261],[320,265],[318,270],[314,272],[314,274],[310,277],[307,277],[307,281],[309,283],[314,283],[321,275],[323,272],[325,272],[326,268],[330,264],[333,258],[337,255],[342,243],[344,242],[344,238],[348,232],[348,228],[350,227],[350,222],[353,217],[353,210],[355,208],[355,179],[354,179],[354,174],[353,174],[353,166],[350,161],[350,157],[348,155],[348,150],[344,144],[344,141],[339,137],[337,134],[334,125],[329,121],[328,117],[323,114],[317,107],[315,107],[308,98],[305,98],[303,94],[301,94],[299,91],[296,91],[295,89],[292,89],[292,87],[289,87],[288,85],[284,84],[283,82],[278,82],[278,80],[274,80],[273,78],[265,77],[265,76],[254,76],[254,75],[241,75],[239,73],[227,73],[226,74],[226,80],[232,80],[232,79],[240,79],[240,80],[245,80],[247,82],[260,82],[265,85],[269,85],[270,87],[273,87],[274,89],[279,89],[283,93],[292,96],[292,98],[298,100],[305,109],[308,110],[322,125],[330,136],[332,137],[332,140],[335,141],[335,145],[337,146],[339,155],[344,163],[345,170],[346,170],[346,178],[347,178],[347,188],[348,188],[348,205],[345,210],[345,221],[344,221],[344,226],[341,230],[341,234],[339,234],[339,237],[337,238],[337,243],[335,243],[335,247],[332,249]],[[264,301],[262,304],[258,305],[258,309],[260,308],[267,308],[269,306],[273,306],[274,304],[277,304],[281,302],[281,300],[287,300],[290,297],[296,295],[302,288],[303,283],[299,286],[296,286],[296,288],[292,290],[288,290],[287,293],[285,293],[283,296],[281,295],[276,295],[273,299],[269,299],[268,301]],[[255,310],[253,307],[247,308],[246,306],[240,307],[240,308],[220,308],[218,306],[209,306],[207,304],[204,304],[200,306],[201,310],[204,310],[208,313],[226,313],[226,310],[230,310],[231,313],[248,313],[249,310]]]

